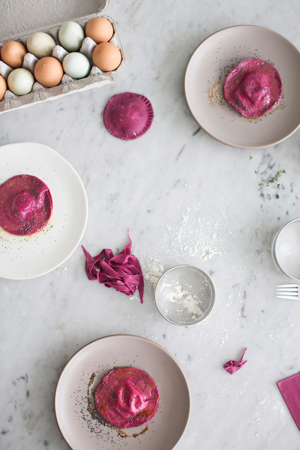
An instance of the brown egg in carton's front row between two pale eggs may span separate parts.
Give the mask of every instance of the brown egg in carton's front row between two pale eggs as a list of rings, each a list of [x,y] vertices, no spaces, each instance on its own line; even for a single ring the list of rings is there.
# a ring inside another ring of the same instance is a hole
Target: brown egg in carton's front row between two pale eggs
[[[40,58],[34,66],[34,76],[36,81],[45,87],[57,86],[62,75],[62,65],[52,56]]]

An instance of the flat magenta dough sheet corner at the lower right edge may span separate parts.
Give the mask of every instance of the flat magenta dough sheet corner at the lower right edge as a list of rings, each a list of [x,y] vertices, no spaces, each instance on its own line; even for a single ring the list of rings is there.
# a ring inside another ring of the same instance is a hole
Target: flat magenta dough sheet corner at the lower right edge
[[[277,382],[292,418],[300,430],[300,373]]]

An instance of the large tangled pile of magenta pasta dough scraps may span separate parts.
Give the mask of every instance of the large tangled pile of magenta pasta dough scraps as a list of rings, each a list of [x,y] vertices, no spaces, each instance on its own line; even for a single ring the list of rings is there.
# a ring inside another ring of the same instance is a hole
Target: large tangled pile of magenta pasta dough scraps
[[[138,288],[140,302],[143,301],[144,281],[139,261],[131,254],[132,241],[115,256],[112,250],[104,248],[99,254],[92,257],[83,247],[86,261],[85,271],[88,279],[97,279],[106,287],[126,295],[133,295]]]

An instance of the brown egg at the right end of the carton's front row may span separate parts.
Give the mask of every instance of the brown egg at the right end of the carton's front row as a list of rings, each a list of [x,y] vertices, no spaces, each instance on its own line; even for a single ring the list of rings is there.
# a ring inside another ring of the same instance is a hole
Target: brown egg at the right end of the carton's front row
[[[115,70],[122,60],[120,50],[111,42],[101,42],[92,51],[92,61],[103,72]]]

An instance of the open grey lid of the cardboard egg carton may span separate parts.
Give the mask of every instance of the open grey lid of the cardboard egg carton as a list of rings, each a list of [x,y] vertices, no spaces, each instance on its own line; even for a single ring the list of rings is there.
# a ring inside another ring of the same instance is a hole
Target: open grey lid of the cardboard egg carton
[[[1,0],[0,41],[104,11],[109,0]]]

